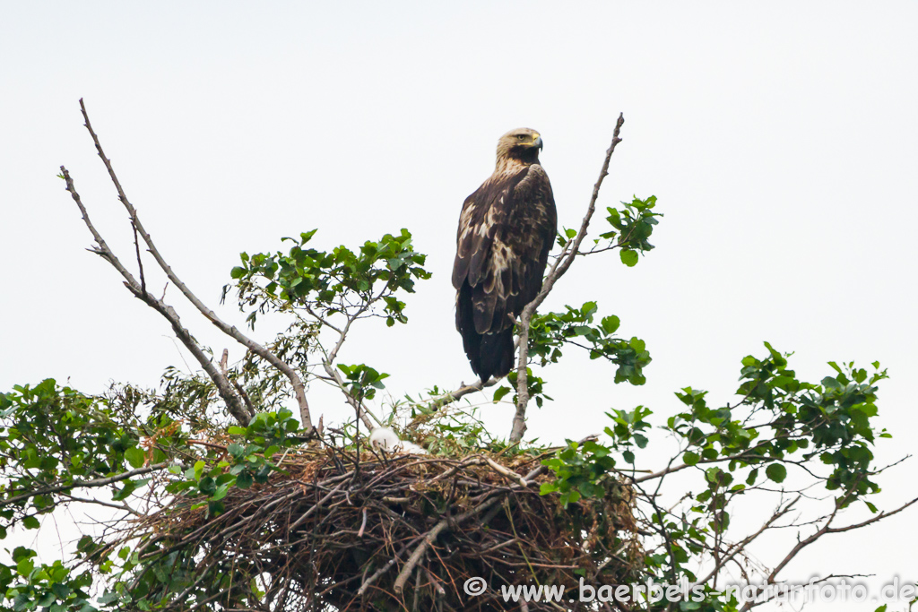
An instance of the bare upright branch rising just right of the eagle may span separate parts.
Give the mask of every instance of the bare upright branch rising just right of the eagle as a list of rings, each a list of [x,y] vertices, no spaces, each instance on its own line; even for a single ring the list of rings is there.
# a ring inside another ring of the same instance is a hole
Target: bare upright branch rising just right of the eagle
[[[609,162],[612,158],[612,153],[615,152],[616,145],[621,142],[619,132],[624,122],[624,115],[620,113],[619,119],[615,123],[615,130],[612,132],[612,142],[609,149],[606,150],[606,159],[602,162],[602,170],[599,172],[599,179],[596,184],[593,185],[593,195],[589,199],[587,214],[580,223],[580,229],[577,231],[577,236],[567,240],[564,249],[561,250],[557,259],[554,260],[552,267],[548,270],[548,273],[545,274],[542,290],[539,291],[539,294],[535,296],[532,302],[523,308],[520,315],[518,321],[518,328],[520,329],[520,356],[517,360],[517,406],[516,414],[513,415],[513,427],[510,429],[509,441],[511,444],[521,441],[522,435],[526,431],[526,406],[529,404],[529,376],[526,372],[526,368],[529,363],[529,326],[532,321],[532,315],[534,315],[536,309],[542,305],[545,297],[551,293],[554,283],[567,272],[567,269],[570,268],[571,263],[573,263],[574,259],[577,257],[580,244],[587,236],[589,220],[593,217],[593,212],[596,210],[596,200],[599,197],[599,188],[602,186],[603,179],[609,174]]]

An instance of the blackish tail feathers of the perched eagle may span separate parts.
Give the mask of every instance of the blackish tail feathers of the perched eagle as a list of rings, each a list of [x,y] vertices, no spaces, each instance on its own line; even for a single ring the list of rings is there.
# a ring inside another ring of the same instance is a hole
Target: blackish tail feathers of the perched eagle
[[[462,334],[463,348],[472,372],[483,383],[494,376],[506,376],[513,367],[513,326],[490,334],[479,334],[475,330],[473,317],[472,288],[463,283],[456,296],[456,329]]]

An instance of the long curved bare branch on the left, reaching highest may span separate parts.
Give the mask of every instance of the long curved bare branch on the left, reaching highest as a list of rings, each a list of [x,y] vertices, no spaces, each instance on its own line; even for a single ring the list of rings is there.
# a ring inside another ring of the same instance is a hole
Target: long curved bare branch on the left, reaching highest
[[[138,217],[137,209],[130,203],[128,196],[125,195],[124,189],[122,189],[121,184],[118,182],[118,176],[115,174],[114,169],[112,168],[111,161],[106,158],[105,152],[102,150],[102,145],[99,143],[98,137],[95,135],[92,124],[89,122],[89,115],[86,113],[86,106],[83,103],[83,99],[80,99],[80,109],[83,112],[83,117],[86,122],[86,129],[89,130],[90,135],[93,137],[93,142],[95,143],[95,150],[98,152],[99,157],[102,158],[102,161],[106,165],[106,170],[108,171],[108,176],[111,178],[112,183],[115,184],[115,188],[118,190],[118,199],[121,200],[121,204],[128,209],[128,214],[130,215],[131,221],[134,224],[134,228],[140,232],[140,237],[147,244],[147,248],[150,250],[153,259],[159,264],[162,268],[162,272],[166,273],[166,276],[169,277],[169,280],[179,288],[179,291],[188,299],[189,302],[195,305],[195,307],[203,314],[207,319],[213,323],[220,331],[227,334],[230,338],[237,340],[242,346],[252,351],[263,360],[269,362],[277,370],[283,373],[289,380],[290,384],[293,385],[294,394],[297,396],[297,404],[299,406],[300,419],[302,420],[304,428],[312,428],[312,418],[309,415],[309,404],[306,398],[306,385],[303,384],[302,379],[299,374],[291,368],[288,364],[279,359],[273,352],[265,349],[261,344],[255,342],[254,340],[247,337],[235,326],[230,326],[221,320],[217,314],[205,306],[201,300],[197,298],[195,294],[191,292],[190,289],[183,283],[178,276],[173,272],[173,269],[162,259],[160,251],[157,250],[156,245],[153,244],[153,240],[150,237],[150,234],[147,233],[147,230],[143,228],[143,224],[140,223],[140,217]]]

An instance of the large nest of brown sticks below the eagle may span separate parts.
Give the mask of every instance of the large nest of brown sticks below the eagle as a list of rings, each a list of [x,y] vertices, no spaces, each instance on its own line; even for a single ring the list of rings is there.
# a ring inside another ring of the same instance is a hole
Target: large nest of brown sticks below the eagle
[[[504,610],[520,604],[502,586],[633,582],[631,490],[610,481],[564,508],[540,495],[540,460],[303,451],[267,484],[230,489],[216,517],[176,500],[144,519],[143,557],[183,576],[166,595],[180,609]]]

